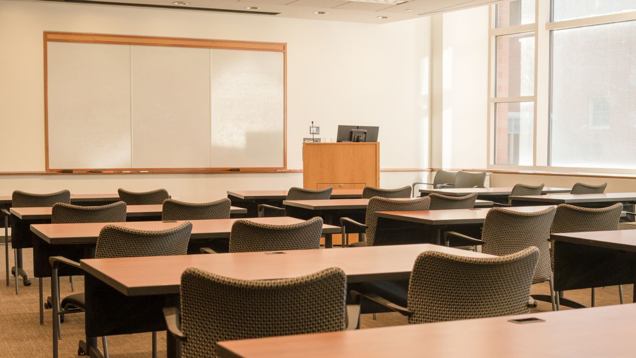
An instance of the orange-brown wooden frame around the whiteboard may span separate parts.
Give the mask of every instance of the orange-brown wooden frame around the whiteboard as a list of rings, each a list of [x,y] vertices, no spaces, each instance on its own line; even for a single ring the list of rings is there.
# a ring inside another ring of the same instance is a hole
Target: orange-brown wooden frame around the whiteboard
[[[49,42],[75,42],[75,43],[106,43],[111,45],[141,45],[160,47],[194,47],[194,48],[218,48],[225,50],[251,50],[282,52],[283,54],[283,166],[282,167],[232,167],[232,168],[50,168],[48,150],[48,59],[46,48]],[[47,172],[59,172],[62,169],[86,172],[100,170],[104,173],[113,172],[139,172],[149,173],[237,173],[230,169],[240,169],[239,173],[254,172],[279,173],[287,171],[287,44],[258,41],[233,41],[221,39],[193,39],[193,38],[165,38],[157,36],[129,36],[109,34],[88,34],[79,32],[44,32],[44,129],[45,129],[45,166]]]

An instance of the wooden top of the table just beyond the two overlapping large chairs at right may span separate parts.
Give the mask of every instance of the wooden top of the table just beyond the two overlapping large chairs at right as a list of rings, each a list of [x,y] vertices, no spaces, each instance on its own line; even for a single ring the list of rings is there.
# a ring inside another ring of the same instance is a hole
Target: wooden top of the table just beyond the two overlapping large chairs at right
[[[512,206],[506,210],[532,213],[552,206]],[[416,222],[427,225],[481,224],[486,219],[490,208],[455,209],[455,210],[421,210],[421,211],[377,211],[375,216],[395,220]]]

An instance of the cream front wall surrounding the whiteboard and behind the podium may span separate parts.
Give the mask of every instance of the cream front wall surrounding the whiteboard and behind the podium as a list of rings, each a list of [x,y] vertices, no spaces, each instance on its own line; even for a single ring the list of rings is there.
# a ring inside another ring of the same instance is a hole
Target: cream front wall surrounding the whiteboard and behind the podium
[[[301,140],[310,121],[322,138],[338,124],[380,125],[382,168],[427,168],[430,20],[356,24],[199,11],[0,0],[0,171],[43,171],[43,31],[98,32],[285,42],[287,166],[302,168]],[[6,152],[6,150],[9,151]],[[424,173],[425,174],[425,173]],[[421,173],[382,173],[382,187]],[[302,185],[300,173],[227,175],[3,176],[0,194],[114,192],[165,187],[200,201],[227,189]]]

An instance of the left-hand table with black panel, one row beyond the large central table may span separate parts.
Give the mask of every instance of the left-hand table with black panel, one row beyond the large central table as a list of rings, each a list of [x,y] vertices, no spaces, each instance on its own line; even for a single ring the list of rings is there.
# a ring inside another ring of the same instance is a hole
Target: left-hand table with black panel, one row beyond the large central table
[[[238,218],[214,219],[214,220],[190,220],[192,223],[191,241],[208,241],[211,239],[228,239],[232,224]],[[254,222],[272,225],[290,225],[302,222],[291,217],[249,218]],[[183,221],[181,221],[183,222]],[[95,243],[102,227],[117,225],[139,230],[165,230],[178,225],[180,222],[116,222],[116,223],[90,223],[90,224],[34,224],[31,231],[33,240],[33,273],[39,279],[40,287],[40,323],[43,324],[43,296],[41,292],[42,280],[51,277],[51,264],[48,259],[52,256],[64,256],[73,261],[79,261],[93,257]],[[323,224],[322,234],[325,236],[325,247],[332,247],[332,234],[340,233],[340,227]],[[83,271],[62,266],[60,276],[83,275]]]

